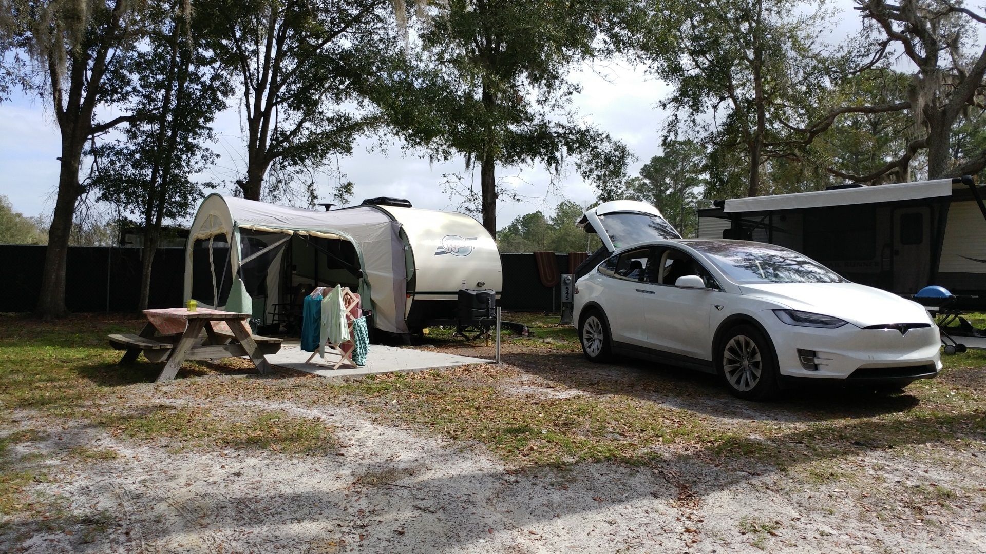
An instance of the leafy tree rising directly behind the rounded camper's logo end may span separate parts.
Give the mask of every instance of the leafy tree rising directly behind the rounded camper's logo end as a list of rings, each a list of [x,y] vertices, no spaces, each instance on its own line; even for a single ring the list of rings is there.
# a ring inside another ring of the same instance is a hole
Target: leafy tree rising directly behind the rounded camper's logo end
[[[375,101],[412,148],[481,166],[484,226],[496,232],[496,165],[569,157],[596,183],[621,181],[625,146],[567,112],[579,61],[605,47],[609,3],[452,0],[419,29],[421,56],[392,71],[397,94]]]

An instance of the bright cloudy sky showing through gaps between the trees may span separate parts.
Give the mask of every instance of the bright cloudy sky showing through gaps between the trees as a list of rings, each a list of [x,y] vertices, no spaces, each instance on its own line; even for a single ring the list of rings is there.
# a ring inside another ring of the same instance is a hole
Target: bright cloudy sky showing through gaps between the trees
[[[848,2],[839,2],[848,4]],[[845,35],[846,26],[856,27],[851,12],[842,12],[835,35]],[[659,106],[669,88],[648,77],[642,69],[611,62],[594,68],[583,67],[573,75],[583,87],[572,106],[599,128],[622,140],[638,160],[631,166],[636,174],[652,156],[660,152],[660,128],[667,114]],[[108,118],[111,114],[104,114]],[[240,116],[228,109],[217,120],[221,138],[213,147],[220,160],[212,178],[231,182],[245,172]],[[384,151],[369,148],[373,141],[358,145],[352,156],[341,158],[342,173],[356,184],[353,202],[373,196],[407,198],[417,207],[455,209],[457,200],[442,190],[443,173],[466,173],[461,159],[447,164],[430,164],[423,153],[404,153],[399,143]],[[0,195],[7,196],[14,209],[25,215],[50,214],[58,183],[59,135],[51,109],[41,101],[25,96],[0,104]],[[550,186],[548,173],[541,167],[498,168],[498,177],[516,187],[522,203],[501,202],[497,224],[505,227],[515,217],[535,210],[549,212],[562,199],[580,204],[595,199],[595,190],[572,168],[558,186]],[[324,177],[320,195],[330,194],[329,177]],[[221,188],[221,190],[223,190]],[[228,190],[228,189],[227,189]]]

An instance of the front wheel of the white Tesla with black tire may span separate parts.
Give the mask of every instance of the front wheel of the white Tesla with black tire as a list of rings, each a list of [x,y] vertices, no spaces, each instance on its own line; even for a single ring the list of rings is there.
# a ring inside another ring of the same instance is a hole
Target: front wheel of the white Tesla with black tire
[[[774,350],[752,325],[737,325],[723,333],[713,352],[720,379],[734,396],[767,400],[777,395]]]

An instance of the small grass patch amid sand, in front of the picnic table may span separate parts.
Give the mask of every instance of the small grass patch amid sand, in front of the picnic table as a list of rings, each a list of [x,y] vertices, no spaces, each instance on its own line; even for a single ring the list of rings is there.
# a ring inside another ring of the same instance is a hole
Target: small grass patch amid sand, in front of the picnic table
[[[307,454],[338,447],[330,429],[317,418],[277,411],[161,405],[141,413],[108,415],[101,423],[111,434],[143,441],[168,439],[178,450],[219,447]]]

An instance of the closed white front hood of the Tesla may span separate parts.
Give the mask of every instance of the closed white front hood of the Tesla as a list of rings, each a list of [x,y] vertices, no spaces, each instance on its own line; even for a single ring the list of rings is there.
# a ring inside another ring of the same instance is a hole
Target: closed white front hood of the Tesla
[[[822,313],[858,327],[887,323],[933,323],[924,307],[856,283],[768,283],[740,285],[743,295],[791,310]]]

